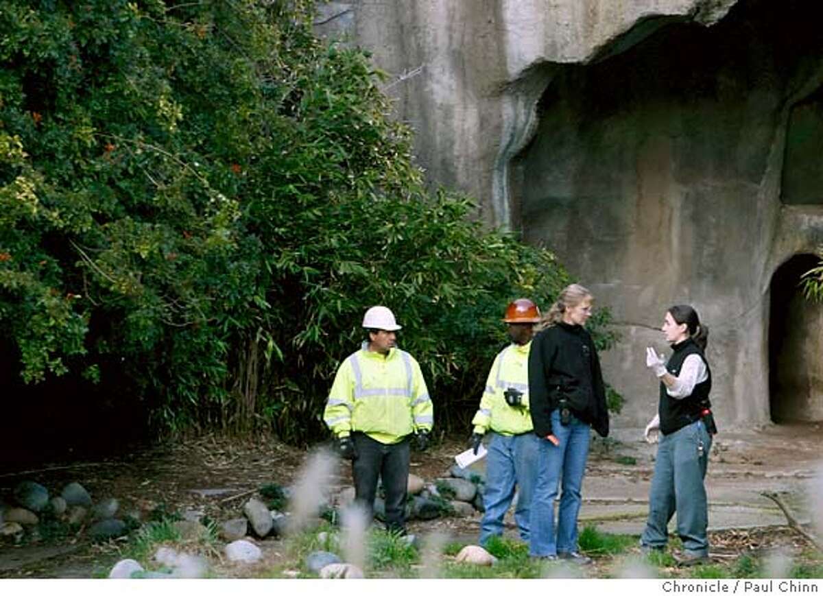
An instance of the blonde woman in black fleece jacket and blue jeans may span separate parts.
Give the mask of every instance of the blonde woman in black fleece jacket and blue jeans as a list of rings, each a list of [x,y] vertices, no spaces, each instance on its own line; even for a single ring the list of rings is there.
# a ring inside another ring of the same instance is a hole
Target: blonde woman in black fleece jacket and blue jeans
[[[609,434],[606,390],[592,336],[584,328],[593,296],[571,284],[560,292],[532,340],[528,389],[540,441],[532,497],[529,554],[590,563],[578,552],[577,518],[588,459],[590,429]],[[554,501],[561,481],[557,524]]]

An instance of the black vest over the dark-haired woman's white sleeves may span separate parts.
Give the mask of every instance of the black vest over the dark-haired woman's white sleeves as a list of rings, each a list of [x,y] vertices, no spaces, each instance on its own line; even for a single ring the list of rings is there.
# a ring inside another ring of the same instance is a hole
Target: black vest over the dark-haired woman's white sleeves
[[[683,426],[690,425],[700,418],[700,411],[704,407],[711,407],[709,392],[712,390],[712,371],[709,370],[709,363],[703,355],[703,350],[692,339],[686,339],[685,342],[675,344],[673,349],[674,354],[666,363],[666,370],[669,373],[674,376],[680,375],[686,356],[697,354],[706,365],[706,373],[709,378],[696,384],[691,395],[681,399],[672,398],[666,392],[666,385],[661,381],[658,412],[660,412],[660,432],[663,435],[671,435],[672,432],[679,431]]]

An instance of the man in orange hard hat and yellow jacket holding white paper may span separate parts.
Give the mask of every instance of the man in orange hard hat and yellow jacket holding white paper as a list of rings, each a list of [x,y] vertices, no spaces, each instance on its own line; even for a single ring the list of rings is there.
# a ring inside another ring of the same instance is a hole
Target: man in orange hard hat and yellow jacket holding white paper
[[[537,479],[536,459],[538,437],[534,434],[528,407],[528,353],[532,347],[534,325],[540,322],[540,310],[528,298],[509,303],[503,319],[511,343],[495,357],[486,389],[472,424],[471,445],[474,453],[480,449],[486,435],[486,510],[480,527],[480,543],[503,533],[503,519],[514,500],[517,487],[517,507],[514,519],[520,538],[528,542],[529,508]]]

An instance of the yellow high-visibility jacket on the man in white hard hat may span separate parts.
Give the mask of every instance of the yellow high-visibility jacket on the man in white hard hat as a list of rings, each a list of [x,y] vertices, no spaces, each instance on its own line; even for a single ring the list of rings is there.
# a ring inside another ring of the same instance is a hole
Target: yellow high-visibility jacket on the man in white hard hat
[[[323,421],[338,437],[360,431],[390,445],[430,431],[434,412],[417,361],[397,347],[370,352],[364,342],[337,369]]]

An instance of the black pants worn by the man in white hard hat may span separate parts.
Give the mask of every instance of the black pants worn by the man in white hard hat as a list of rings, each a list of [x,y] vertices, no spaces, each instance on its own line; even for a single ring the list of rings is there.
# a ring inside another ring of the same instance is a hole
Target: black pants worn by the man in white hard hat
[[[351,438],[357,449],[357,459],[351,463],[351,473],[355,479],[355,500],[365,509],[368,519],[372,519],[377,479],[383,478],[386,491],[386,529],[405,532],[411,459],[408,437],[394,445],[384,445],[361,432],[352,433]]]

